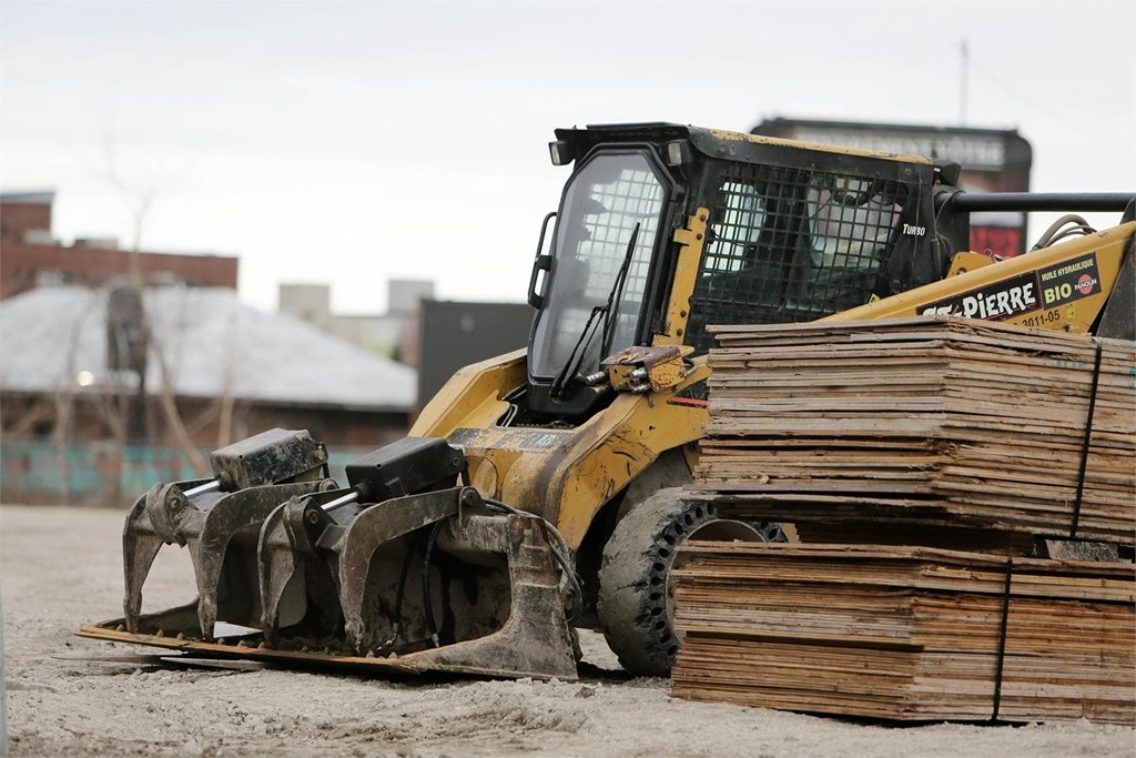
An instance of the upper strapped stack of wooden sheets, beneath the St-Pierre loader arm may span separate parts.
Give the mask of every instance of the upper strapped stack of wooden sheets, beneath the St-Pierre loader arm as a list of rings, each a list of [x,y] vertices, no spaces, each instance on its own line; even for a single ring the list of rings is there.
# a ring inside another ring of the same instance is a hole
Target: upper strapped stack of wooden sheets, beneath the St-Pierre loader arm
[[[936,317],[725,326],[695,497],[1131,543],[1136,344]]]

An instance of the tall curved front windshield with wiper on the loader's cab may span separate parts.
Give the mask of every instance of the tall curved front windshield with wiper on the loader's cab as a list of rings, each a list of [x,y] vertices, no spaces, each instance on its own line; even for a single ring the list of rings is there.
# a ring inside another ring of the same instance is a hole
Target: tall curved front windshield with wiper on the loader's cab
[[[634,343],[666,194],[642,152],[601,153],[573,176],[533,333],[533,376],[557,376],[569,361],[574,375],[591,374],[602,353]]]

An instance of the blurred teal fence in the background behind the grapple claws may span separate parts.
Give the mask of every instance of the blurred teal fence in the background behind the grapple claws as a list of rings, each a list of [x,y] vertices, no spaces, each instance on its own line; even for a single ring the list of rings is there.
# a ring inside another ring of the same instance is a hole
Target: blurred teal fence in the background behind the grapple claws
[[[341,485],[343,466],[368,449],[329,449],[332,477]],[[209,459],[209,450],[201,450]],[[154,482],[198,478],[179,449],[106,442],[56,445],[48,442],[0,444],[0,501],[126,506]]]

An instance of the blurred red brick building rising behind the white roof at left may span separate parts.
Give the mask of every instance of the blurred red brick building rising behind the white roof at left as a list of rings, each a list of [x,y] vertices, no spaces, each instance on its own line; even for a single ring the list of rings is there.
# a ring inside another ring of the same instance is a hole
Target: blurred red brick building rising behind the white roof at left
[[[136,270],[145,283],[236,289],[237,259],[126,252],[114,240],[60,244],[51,234],[55,192],[0,193],[0,300],[41,283],[99,288]]]

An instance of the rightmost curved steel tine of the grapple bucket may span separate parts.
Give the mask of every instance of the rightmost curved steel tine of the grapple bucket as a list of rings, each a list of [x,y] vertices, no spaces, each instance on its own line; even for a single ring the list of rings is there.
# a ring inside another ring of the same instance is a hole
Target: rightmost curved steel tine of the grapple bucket
[[[386,500],[362,510],[331,549],[339,553],[339,594],[348,647],[370,650],[382,640],[364,609],[377,603],[368,597],[368,576],[375,551],[386,542],[458,513],[462,503],[479,503],[477,491],[454,488]]]

